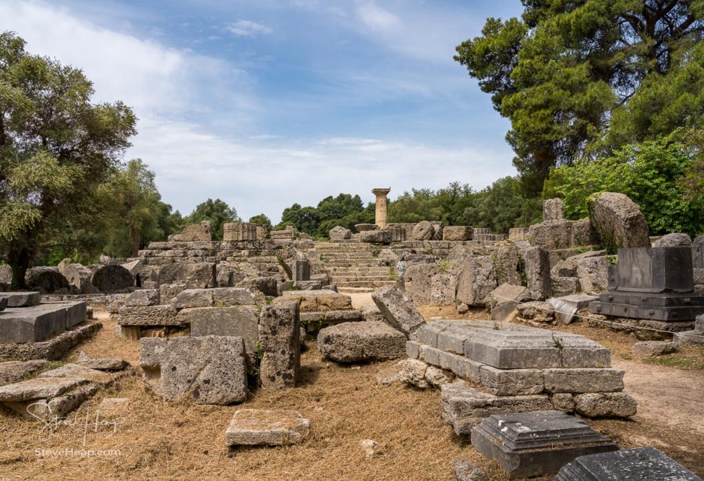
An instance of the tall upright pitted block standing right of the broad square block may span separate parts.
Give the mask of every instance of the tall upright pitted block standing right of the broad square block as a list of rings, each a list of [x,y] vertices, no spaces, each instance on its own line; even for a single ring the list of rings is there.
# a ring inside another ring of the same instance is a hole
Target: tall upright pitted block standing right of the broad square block
[[[301,370],[298,301],[290,299],[265,306],[260,314],[258,334],[264,352],[260,364],[262,386],[275,389],[295,386]]]

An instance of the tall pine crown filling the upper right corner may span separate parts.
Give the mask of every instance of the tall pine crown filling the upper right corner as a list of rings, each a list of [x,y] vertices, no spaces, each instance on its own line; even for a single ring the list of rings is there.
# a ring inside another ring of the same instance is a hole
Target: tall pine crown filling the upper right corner
[[[652,140],[704,113],[700,0],[523,0],[457,47],[494,108],[529,193],[553,166]]]

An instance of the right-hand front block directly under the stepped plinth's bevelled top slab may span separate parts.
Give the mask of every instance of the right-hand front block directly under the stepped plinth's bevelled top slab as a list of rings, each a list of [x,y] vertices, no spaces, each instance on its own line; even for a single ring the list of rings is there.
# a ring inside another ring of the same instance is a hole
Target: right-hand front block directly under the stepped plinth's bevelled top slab
[[[624,371],[605,369],[545,369],[545,390],[548,393],[610,393],[623,389]]]

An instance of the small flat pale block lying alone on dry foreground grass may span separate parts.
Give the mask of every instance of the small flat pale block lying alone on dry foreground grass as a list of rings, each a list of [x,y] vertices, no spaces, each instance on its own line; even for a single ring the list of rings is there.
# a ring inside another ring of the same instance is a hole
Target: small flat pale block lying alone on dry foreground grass
[[[310,421],[296,411],[237,409],[225,432],[227,446],[296,444],[308,437]]]

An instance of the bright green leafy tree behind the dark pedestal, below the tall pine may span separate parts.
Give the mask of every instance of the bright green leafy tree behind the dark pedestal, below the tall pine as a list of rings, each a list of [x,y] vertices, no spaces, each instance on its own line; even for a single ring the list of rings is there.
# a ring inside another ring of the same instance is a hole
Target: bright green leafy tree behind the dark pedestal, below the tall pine
[[[695,160],[700,157],[675,140],[678,134],[629,144],[611,156],[555,169],[545,195],[562,197],[566,216],[574,219],[588,215],[586,201],[594,192],[622,192],[641,206],[653,235],[702,233],[704,196],[687,190],[688,175],[700,169]]]

